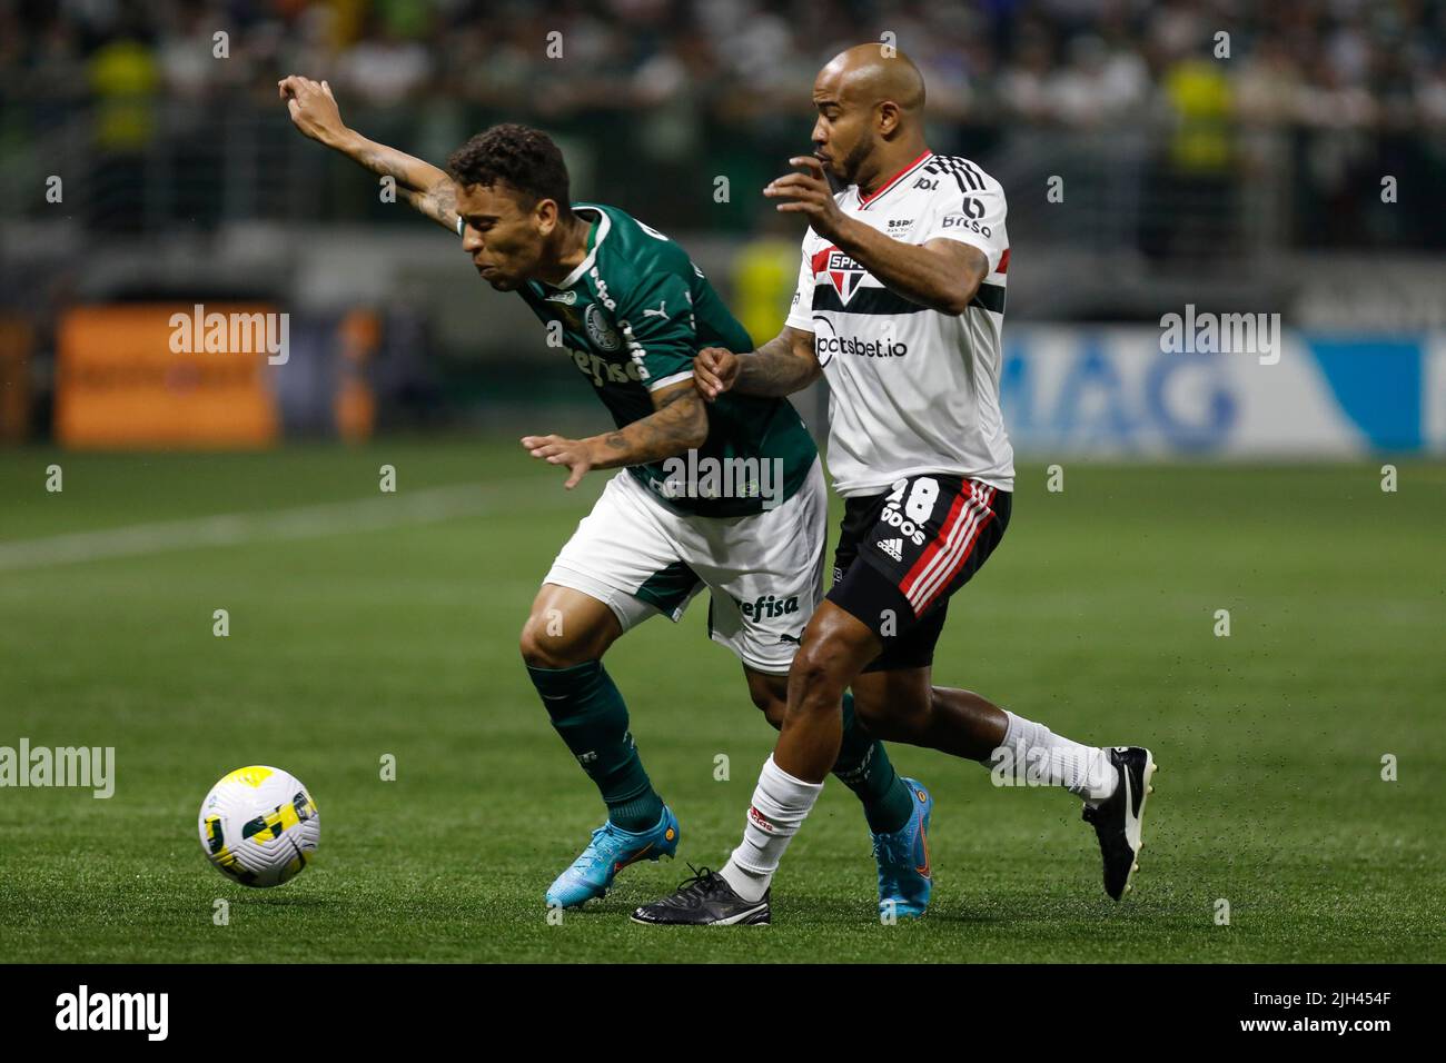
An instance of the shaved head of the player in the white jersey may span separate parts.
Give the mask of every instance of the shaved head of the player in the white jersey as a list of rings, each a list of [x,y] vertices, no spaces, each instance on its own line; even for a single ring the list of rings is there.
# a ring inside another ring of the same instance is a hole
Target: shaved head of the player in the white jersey
[[[855,45],[814,78],[814,155],[844,184],[872,185],[924,150],[924,75],[904,52]]]

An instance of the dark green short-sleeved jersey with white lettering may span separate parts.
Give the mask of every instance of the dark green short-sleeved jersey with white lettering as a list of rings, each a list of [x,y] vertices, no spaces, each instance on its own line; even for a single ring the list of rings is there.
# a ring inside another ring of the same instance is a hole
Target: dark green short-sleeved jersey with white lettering
[[[518,294],[545,324],[561,323],[567,357],[619,428],[654,412],[651,392],[691,380],[703,347],[753,349],[683,247],[616,207],[573,210],[594,223],[587,257],[561,286],[529,281]],[[726,392],[696,454],[629,471],[681,513],[743,516],[791,498],[817,454],[787,399]]]

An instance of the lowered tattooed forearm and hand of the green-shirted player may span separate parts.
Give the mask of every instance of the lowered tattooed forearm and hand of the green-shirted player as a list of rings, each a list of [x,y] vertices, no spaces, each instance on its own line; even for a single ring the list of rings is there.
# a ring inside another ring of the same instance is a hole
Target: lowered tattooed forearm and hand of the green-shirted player
[[[571,490],[590,469],[642,466],[685,454],[709,438],[709,411],[691,380],[652,393],[654,412],[626,428],[586,440],[523,435],[522,445],[548,464],[567,466],[562,486]]]

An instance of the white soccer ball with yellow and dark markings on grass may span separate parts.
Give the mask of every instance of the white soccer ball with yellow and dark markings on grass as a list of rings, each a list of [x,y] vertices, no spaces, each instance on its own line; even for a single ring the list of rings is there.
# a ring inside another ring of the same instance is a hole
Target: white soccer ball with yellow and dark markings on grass
[[[201,803],[201,849],[227,878],[273,887],[299,875],[321,840],[321,819],[301,780],[253,764],[217,782]]]

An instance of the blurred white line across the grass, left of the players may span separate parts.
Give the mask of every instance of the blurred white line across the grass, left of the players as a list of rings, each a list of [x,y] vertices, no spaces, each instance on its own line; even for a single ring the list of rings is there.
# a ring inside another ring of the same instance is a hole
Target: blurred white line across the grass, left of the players
[[[597,477],[599,486],[606,477]],[[117,557],[163,554],[201,547],[236,547],[278,539],[314,539],[346,532],[435,524],[486,512],[499,498],[522,498],[528,508],[584,506],[587,495],[562,490],[561,477],[545,484],[536,477],[398,492],[353,502],[330,502],[254,513],[217,513],[187,521],[132,524],[93,532],[46,535],[0,542],[0,571],[48,568],[59,564]],[[561,545],[561,544],[560,544]]]

